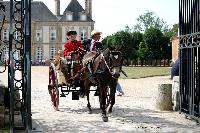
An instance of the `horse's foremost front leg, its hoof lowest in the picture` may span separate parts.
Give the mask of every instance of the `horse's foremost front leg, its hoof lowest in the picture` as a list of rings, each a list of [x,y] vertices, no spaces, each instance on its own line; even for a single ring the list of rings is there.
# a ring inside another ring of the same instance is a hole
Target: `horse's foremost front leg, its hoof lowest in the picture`
[[[102,114],[102,120],[104,122],[108,121],[108,116],[106,115],[106,87],[100,87],[100,108],[101,108],[101,114]]]

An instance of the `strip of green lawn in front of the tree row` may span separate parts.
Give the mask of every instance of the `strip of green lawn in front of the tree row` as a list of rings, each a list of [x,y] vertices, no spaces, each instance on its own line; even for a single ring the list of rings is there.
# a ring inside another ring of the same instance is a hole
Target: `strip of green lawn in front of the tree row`
[[[128,77],[121,74],[120,78],[135,79],[153,76],[167,76],[170,75],[171,67],[123,67],[122,70],[126,72]]]

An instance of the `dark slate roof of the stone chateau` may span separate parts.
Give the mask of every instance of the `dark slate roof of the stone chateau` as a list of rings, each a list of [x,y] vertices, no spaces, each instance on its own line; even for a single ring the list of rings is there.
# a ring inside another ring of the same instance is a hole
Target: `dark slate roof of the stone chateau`
[[[6,21],[10,20],[10,1],[2,1],[3,5],[5,5],[5,16]],[[79,4],[77,0],[71,0],[63,15],[56,17],[48,7],[42,1],[32,1],[31,2],[31,19],[32,21],[36,22],[55,22],[55,21],[62,21],[66,22],[66,13],[72,13],[73,15],[73,22],[80,21],[80,13],[85,13],[83,7]],[[3,12],[0,13],[0,21],[3,20]],[[85,20],[86,22],[94,22],[88,15]]]

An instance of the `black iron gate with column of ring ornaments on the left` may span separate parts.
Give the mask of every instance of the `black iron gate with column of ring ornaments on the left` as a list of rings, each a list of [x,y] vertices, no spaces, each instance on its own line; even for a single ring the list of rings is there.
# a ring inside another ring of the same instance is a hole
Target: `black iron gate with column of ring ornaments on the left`
[[[31,119],[31,0],[0,2],[0,55],[4,70],[8,68],[10,132],[17,128],[15,108],[20,105],[23,130],[30,132]],[[17,76],[16,76],[17,75]],[[19,98],[16,98],[19,92]],[[21,127],[20,127],[21,128]]]

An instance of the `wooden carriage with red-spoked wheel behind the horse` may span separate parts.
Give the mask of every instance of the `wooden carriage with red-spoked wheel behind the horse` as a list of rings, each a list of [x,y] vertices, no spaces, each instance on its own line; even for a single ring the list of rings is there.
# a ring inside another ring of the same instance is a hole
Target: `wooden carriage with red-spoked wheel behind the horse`
[[[58,110],[59,97],[66,97],[70,92],[72,92],[72,100],[79,100],[79,89],[84,87],[83,77],[78,74],[82,68],[82,61],[78,54],[65,58],[58,53],[55,54],[55,60],[49,66],[48,91],[56,110]]]

